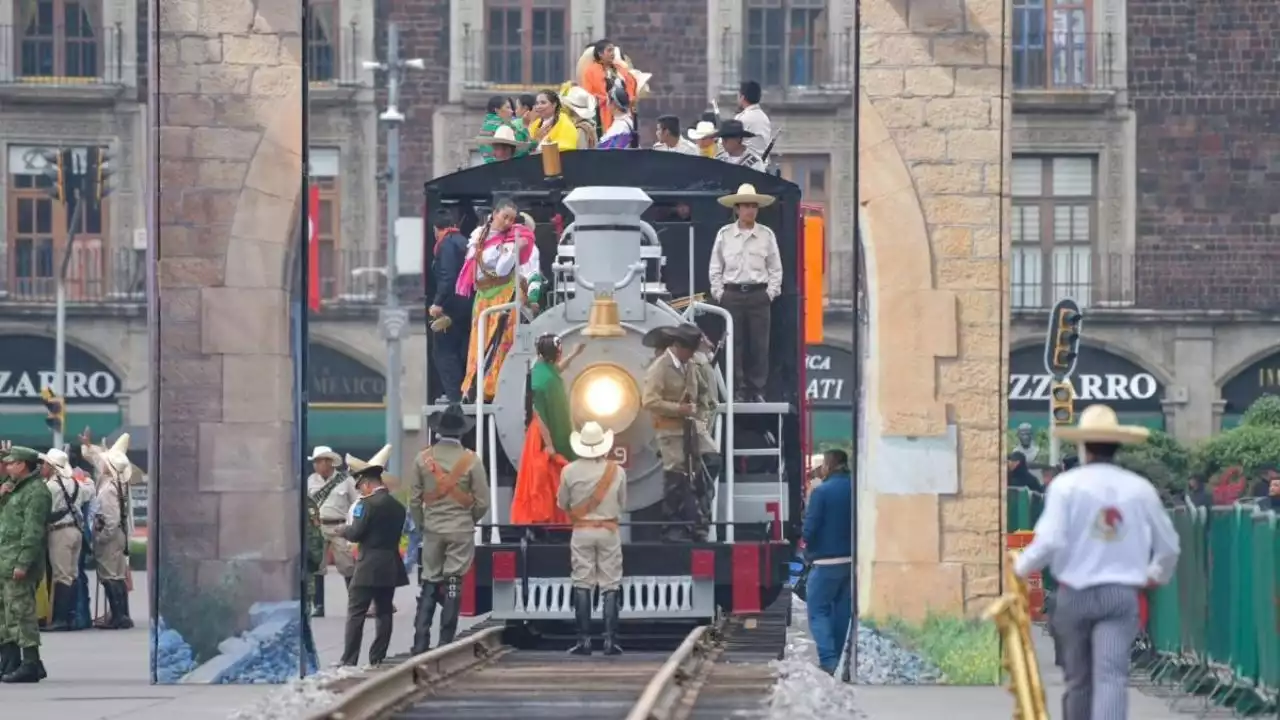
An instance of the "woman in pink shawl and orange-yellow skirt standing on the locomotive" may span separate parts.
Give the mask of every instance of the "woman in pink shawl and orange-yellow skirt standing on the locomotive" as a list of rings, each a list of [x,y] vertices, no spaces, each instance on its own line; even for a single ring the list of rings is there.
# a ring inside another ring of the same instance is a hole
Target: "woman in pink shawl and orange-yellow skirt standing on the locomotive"
[[[467,246],[467,259],[458,274],[454,288],[462,297],[475,295],[471,316],[471,342],[467,350],[467,374],[462,380],[462,395],[471,397],[476,382],[476,345],[484,354],[484,377],[481,384],[486,400],[493,398],[498,386],[498,372],[511,351],[516,337],[518,314],[493,313],[480,325],[480,314],[486,307],[504,305],[516,299],[516,292],[524,292],[520,265],[529,261],[534,250],[534,233],[520,223],[520,208],[512,200],[499,200],[494,204],[489,223],[476,228]]]

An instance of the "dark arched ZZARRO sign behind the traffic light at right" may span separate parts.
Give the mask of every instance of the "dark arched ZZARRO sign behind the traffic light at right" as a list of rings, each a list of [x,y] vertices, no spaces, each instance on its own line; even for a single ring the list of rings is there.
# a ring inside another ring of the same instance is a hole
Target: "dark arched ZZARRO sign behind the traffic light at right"
[[[1053,378],[1044,373],[1043,348],[1021,347],[1009,355],[1009,409],[1048,411]],[[1080,345],[1075,374],[1076,410],[1105,402],[1117,413],[1160,413],[1165,387],[1137,364],[1098,347]]]

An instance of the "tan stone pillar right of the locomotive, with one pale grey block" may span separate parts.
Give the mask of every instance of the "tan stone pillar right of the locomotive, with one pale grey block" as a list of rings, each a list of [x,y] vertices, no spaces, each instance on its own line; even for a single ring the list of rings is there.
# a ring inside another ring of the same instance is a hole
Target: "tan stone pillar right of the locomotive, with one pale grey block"
[[[972,614],[1000,589],[1006,36],[1000,0],[863,4],[870,615]]]

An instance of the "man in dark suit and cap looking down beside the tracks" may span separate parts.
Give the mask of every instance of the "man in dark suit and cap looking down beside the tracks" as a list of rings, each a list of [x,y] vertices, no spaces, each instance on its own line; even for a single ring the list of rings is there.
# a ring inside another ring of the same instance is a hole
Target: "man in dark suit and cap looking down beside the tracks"
[[[375,614],[374,642],[369,646],[369,664],[378,666],[387,659],[392,642],[392,612],[396,588],[408,584],[408,573],[399,556],[404,530],[404,506],[388,492],[383,475],[392,446],[383,446],[367,461],[347,455],[351,479],[360,491],[360,501],[351,509],[351,521],[339,534],[360,544],[360,556],[347,589],[347,632],[343,638],[342,664],[360,661],[365,620],[372,605]]]

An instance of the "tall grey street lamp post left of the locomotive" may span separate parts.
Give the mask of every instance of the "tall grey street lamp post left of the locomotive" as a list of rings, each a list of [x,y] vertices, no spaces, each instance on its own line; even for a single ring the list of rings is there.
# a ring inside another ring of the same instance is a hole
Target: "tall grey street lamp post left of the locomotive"
[[[396,220],[399,219],[399,127],[404,122],[403,113],[397,106],[399,104],[399,87],[406,69],[426,69],[426,64],[417,58],[404,59],[399,54],[399,26],[389,23],[387,26],[387,61],[364,63],[366,70],[380,70],[387,73],[387,110],[378,117],[387,123],[387,172],[383,178],[387,181],[387,297],[378,316],[378,327],[387,341],[387,442],[392,446],[392,457],[387,471],[398,475],[401,460],[401,439],[404,430],[402,428],[404,416],[401,411],[401,377],[403,363],[401,360],[401,340],[404,328],[408,327],[408,310],[401,307],[399,296],[396,293],[396,279],[399,277],[396,266]]]

